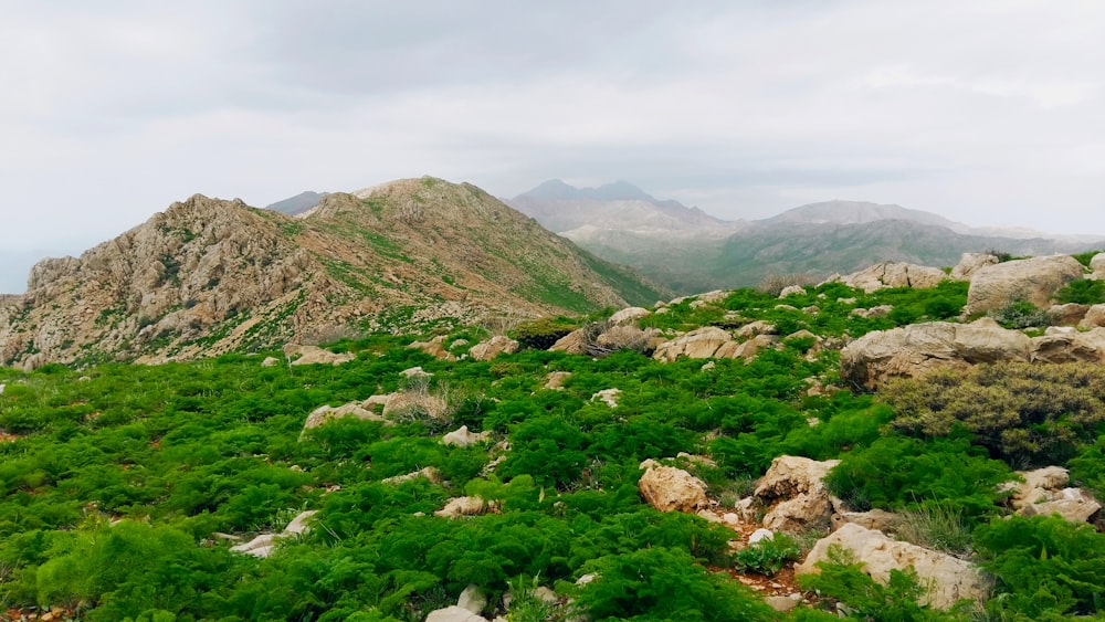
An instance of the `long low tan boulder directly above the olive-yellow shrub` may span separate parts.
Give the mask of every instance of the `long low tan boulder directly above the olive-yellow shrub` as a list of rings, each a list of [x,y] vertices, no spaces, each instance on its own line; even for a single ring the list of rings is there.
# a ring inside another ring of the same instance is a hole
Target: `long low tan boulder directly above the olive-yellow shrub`
[[[915,377],[939,367],[980,362],[1028,361],[1031,339],[990,318],[971,324],[930,321],[876,330],[841,350],[841,376],[874,389],[896,377]]]

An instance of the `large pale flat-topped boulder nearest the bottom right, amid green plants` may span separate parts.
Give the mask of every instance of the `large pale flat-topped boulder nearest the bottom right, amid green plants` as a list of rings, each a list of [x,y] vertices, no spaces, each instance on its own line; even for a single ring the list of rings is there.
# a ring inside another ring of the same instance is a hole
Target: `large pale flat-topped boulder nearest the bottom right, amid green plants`
[[[882,531],[855,524],[844,525],[819,540],[806,561],[794,567],[794,573],[820,572],[815,565],[829,559],[832,545],[851,550],[855,560],[863,563],[863,571],[883,584],[890,580],[891,570],[912,566],[922,584],[932,586],[922,602],[935,609],[947,609],[960,599],[981,599],[987,593],[986,582],[970,563],[917,545],[892,540]]]

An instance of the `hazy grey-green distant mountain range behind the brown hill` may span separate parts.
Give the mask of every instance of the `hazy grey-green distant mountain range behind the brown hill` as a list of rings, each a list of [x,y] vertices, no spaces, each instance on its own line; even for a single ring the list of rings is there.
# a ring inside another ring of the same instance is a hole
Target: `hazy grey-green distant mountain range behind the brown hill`
[[[768,219],[726,221],[654,199],[627,182],[578,189],[552,180],[506,202],[682,294],[755,286],[770,275],[818,280],[882,261],[949,266],[965,252],[1041,255],[1105,247],[1105,235],[975,229],[930,212],[862,201],[825,201]]]

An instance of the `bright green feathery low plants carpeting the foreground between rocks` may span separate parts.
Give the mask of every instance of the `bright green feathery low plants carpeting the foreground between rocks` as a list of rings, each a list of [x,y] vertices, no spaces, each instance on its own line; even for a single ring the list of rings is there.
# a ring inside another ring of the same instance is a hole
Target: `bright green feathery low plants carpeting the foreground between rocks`
[[[642,320],[669,335],[760,319],[782,336],[814,335],[708,369],[633,350],[547,351],[593,319],[567,317],[518,326],[532,348],[491,361],[441,360],[406,347],[414,336],[385,335],[334,345],[357,355],[341,366],[290,366],[262,352],[0,369],[0,604],[60,605],[92,621],[423,620],[474,583],[491,597],[487,614],[512,589],[519,620],[835,620],[836,601],[856,619],[969,619],[967,609],[917,604],[925,587],[915,576],[878,586],[845,557],[807,583],[817,607],[775,613],[728,571],[775,571],[823,534],[739,555],[725,527],[652,509],[638,492],[639,464],[686,452],[716,461],[691,468],[725,503],[778,455],[841,458],[829,485],[857,509],[958,518],[959,555],[996,580],[981,605],[990,619],[1096,613],[1105,536],[1046,517],[1002,519],[999,492],[1013,468],[1044,462],[1087,485],[1105,481],[1096,376],[980,367],[864,394],[838,388],[839,355],[818,346],[951,318],[965,303],[956,283],[872,294],[828,284],[782,301],[753,289],[716,304],[688,299]],[[893,310],[852,314],[883,304]],[[453,352],[485,336],[449,330]],[[262,367],[266,355],[280,365]],[[413,367],[432,376],[401,373]],[[564,388],[545,388],[558,371],[570,373]],[[1009,394],[994,388],[1006,383]],[[985,387],[989,402],[955,399]],[[593,398],[606,389],[621,391],[615,408]],[[320,405],[397,391],[448,408],[303,431]],[[988,419],[987,404],[1017,417]],[[460,425],[490,439],[440,442]],[[386,482],[427,467],[440,477]],[[495,509],[434,515],[462,495]],[[314,528],[267,559],[230,550],[305,509],[318,510]],[[575,604],[527,595],[538,586]]]

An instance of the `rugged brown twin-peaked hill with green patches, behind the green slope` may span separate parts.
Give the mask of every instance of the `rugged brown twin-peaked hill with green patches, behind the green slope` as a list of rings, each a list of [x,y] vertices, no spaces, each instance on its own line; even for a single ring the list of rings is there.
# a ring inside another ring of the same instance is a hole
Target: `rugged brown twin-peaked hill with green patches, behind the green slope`
[[[196,196],[36,264],[0,306],[0,362],[189,359],[661,295],[470,185],[328,194],[295,219]]]

